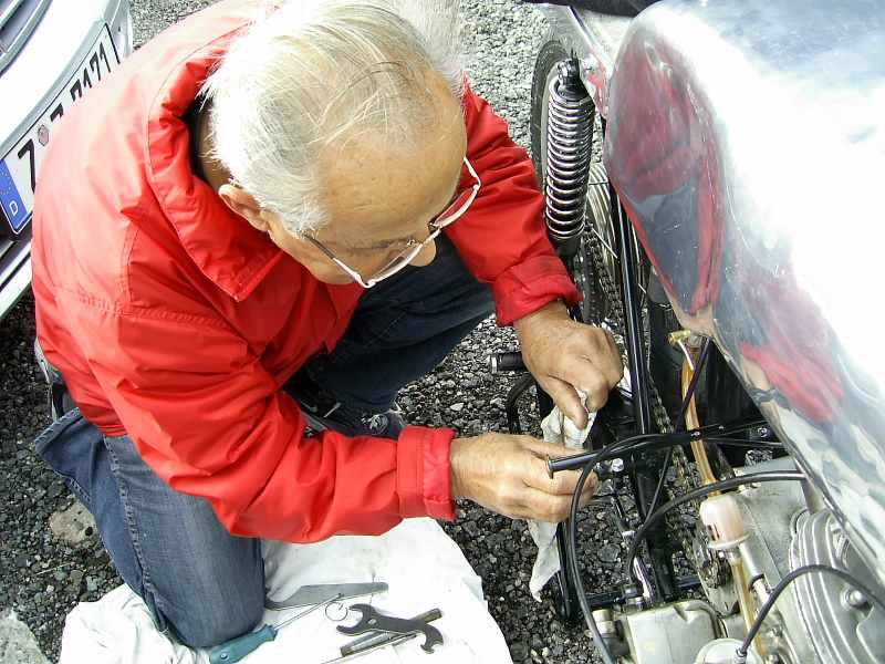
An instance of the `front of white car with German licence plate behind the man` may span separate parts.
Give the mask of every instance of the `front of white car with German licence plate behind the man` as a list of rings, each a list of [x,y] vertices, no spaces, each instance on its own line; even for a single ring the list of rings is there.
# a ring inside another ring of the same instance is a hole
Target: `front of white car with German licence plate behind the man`
[[[0,319],[31,283],[33,194],[53,125],[132,38],[129,0],[0,0]]]

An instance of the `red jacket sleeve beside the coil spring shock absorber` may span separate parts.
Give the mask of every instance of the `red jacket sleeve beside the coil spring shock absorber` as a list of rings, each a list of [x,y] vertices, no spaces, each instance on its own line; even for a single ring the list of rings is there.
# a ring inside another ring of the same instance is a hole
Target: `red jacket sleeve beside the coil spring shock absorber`
[[[581,295],[546,237],[544,199],[529,155],[469,87],[464,107],[467,158],[482,186],[468,212],[446,231],[467,268],[491,283],[498,324],[558,298],[577,303]]]

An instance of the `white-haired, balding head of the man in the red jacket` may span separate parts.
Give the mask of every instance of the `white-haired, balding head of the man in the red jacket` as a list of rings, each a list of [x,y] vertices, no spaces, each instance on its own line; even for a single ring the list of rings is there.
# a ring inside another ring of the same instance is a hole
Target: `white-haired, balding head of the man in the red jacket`
[[[427,238],[466,149],[456,21],[457,0],[291,0],[257,21],[205,86],[219,195],[326,282],[351,278],[321,247],[366,279]]]

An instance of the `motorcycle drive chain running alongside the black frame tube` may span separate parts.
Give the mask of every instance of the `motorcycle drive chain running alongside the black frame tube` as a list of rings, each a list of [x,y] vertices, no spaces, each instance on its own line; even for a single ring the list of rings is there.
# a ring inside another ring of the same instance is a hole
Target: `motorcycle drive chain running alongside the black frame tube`
[[[591,224],[592,222],[593,221],[591,221]],[[602,287],[606,301],[606,311],[604,314],[607,314],[607,317],[612,319],[610,322],[614,323],[616,331],[623,336],[624,330],[626,329],[624,325],[624,307],[621,301],[620,288],[616,287],[612,274],[605,267],[602,255],[602,242],[591,228],[585,232],[582,243],[584,246],[583,260],[586,260],[586,255],[590,253],[597,281]],[[583,277],[586,279],[591,276],[584,270]],[[589,292],[590,284],[586,286],[585,292]],[[660,433],[673,433],[673,423],[670,422],[667,408],[664,407],[664,402],[660,398],[660,394],[652,376],[648,376],[648,384],[652,393],[652,415],[655,419],[655,424]],[[670,500],[688,492],[698,484],[694,479],[688,457],[681,446],[673,447],[671,464],[676,471],[676,479],[671,485],[667,484],[666,487]],[[700,513],[700,500],[694,500],[689,506],[693,513]],[[695,569],[701,581],[704,581],[705,585],[708,588],[718,588],[725,583],[728,579],[728,567],[722,563],[718,556],[710,553],[707,546],[709,540],[704,529],[691,529],[676,510],[671,510],[667,515],[666,520],[668,528],[677,533],[676,539],[681,546],[686,559],[688,559],[688,562]]]

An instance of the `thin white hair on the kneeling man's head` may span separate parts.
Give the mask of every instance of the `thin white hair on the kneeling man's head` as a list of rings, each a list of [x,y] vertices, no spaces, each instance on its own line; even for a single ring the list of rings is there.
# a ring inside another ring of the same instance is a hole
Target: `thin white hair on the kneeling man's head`
[[[323,147],[361,133],[414,145],[437,115],[429,71],[462,94],[458,4],[266,1],[204,84],[214,157],[289,232],[315,232]]]

